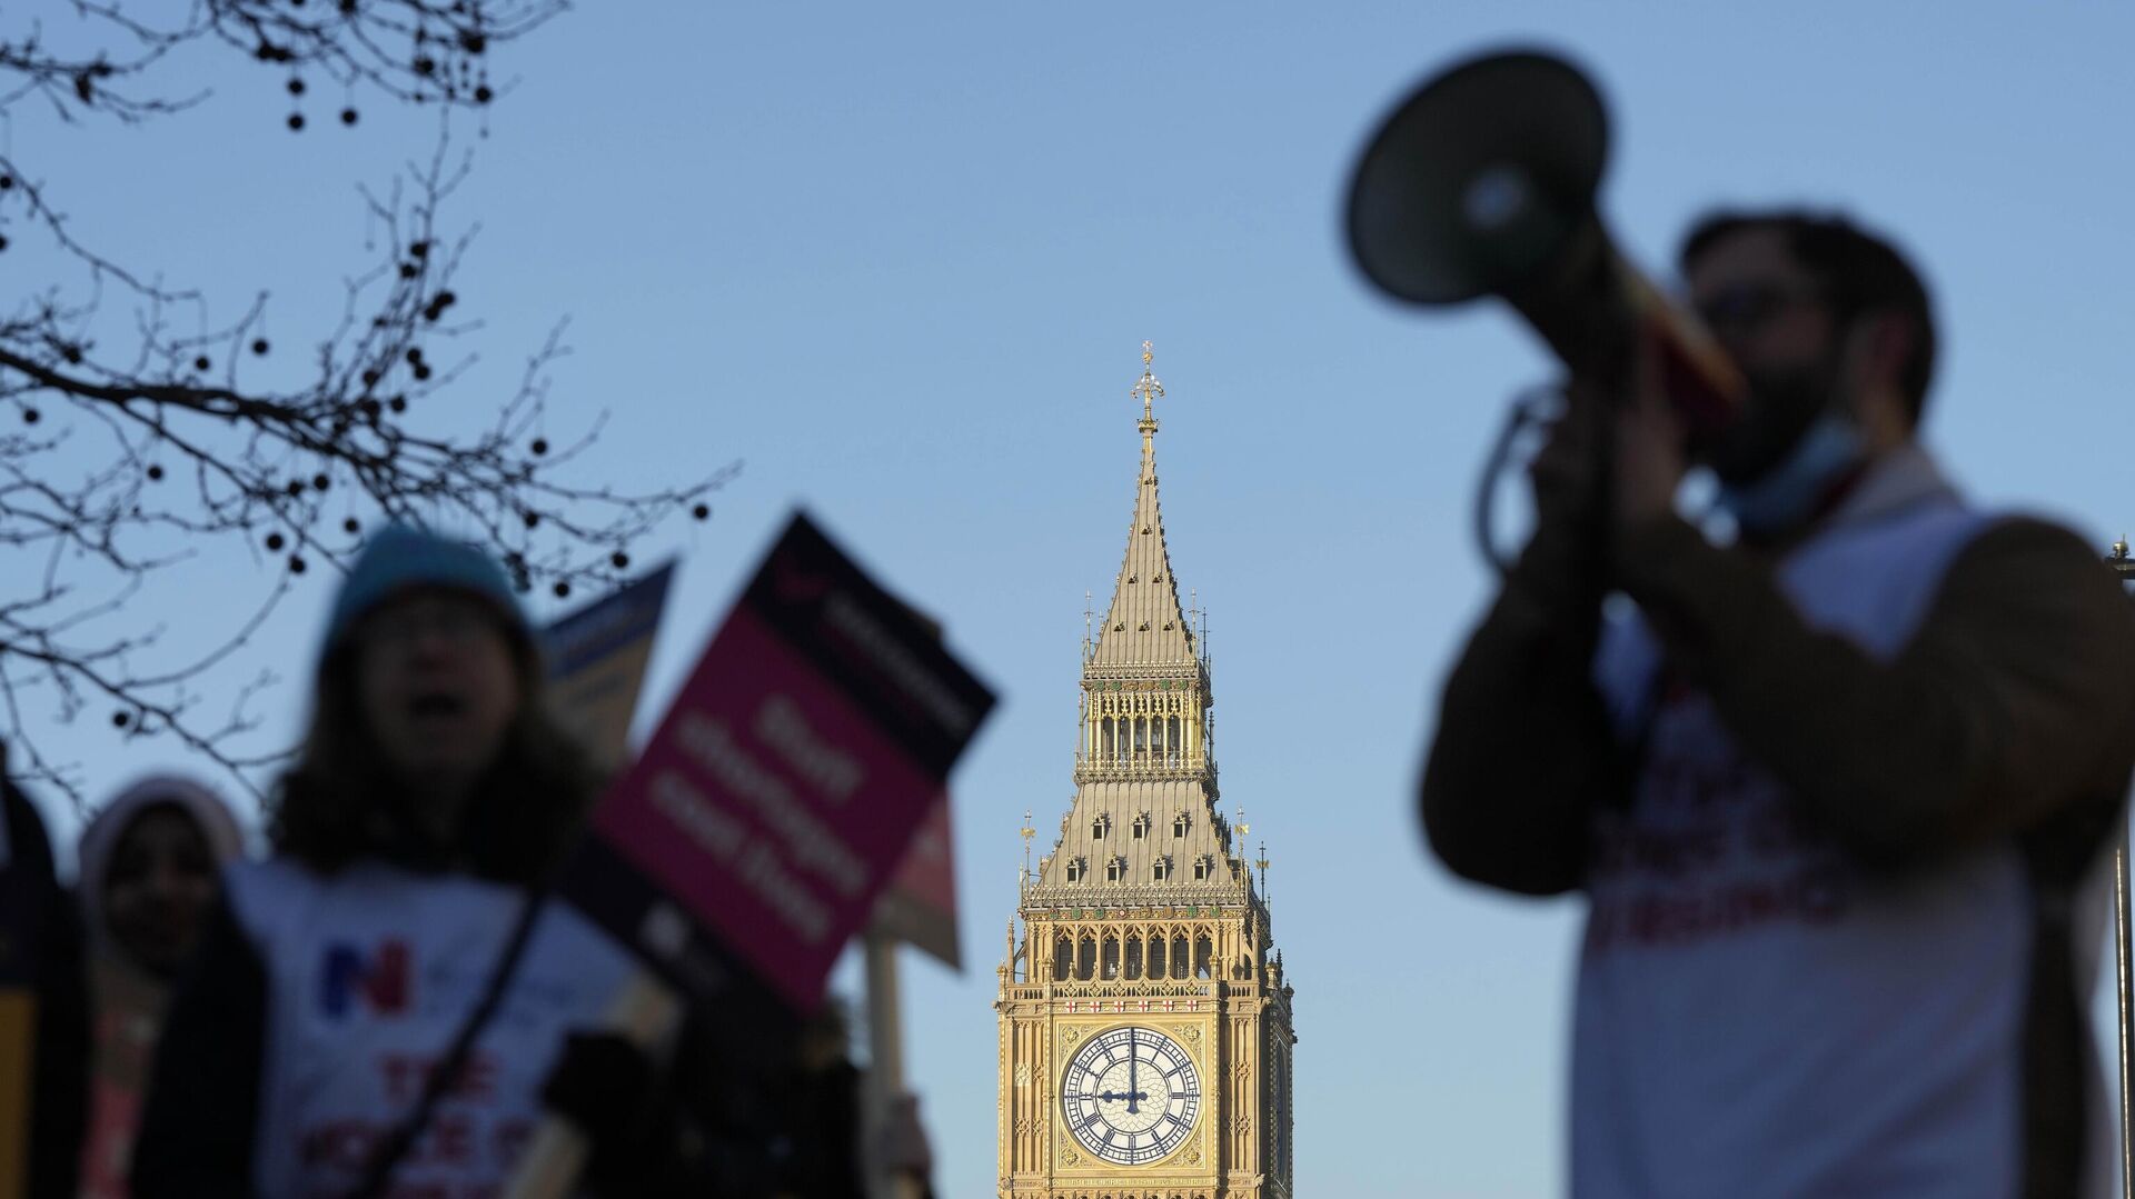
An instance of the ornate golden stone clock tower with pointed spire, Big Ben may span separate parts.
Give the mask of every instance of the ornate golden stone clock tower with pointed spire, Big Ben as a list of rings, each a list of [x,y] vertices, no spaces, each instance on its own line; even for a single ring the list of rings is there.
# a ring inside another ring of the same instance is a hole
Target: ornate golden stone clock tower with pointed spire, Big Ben
[[[1179,604],[1157,510],[1161,395],[1144,341],[1142,469],[1085,634],[1074,804],[1025,864],[999,971],[1001,1199],[1292,1195],[1292,988],[1266,858],[1245,860],[1247,826],[1217,806],[1206,623]]]

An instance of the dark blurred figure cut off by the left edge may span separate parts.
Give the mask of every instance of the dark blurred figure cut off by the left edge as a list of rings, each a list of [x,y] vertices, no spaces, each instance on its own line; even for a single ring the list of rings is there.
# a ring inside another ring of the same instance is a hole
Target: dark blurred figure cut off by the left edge
[[[73,1199],[88,1075],[81,926],[0,745],[0,1190]]]

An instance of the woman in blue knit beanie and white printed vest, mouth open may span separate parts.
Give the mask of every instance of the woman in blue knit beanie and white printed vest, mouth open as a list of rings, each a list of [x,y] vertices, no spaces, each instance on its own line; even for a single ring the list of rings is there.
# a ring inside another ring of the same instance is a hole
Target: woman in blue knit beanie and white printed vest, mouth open
[[[630,971],[538,900],[594,794],[540,683],[493,559],[371,538],[275,789],[273,858],[231,873],[171,1001],[139,1199],[506,1184],[566,1033]]]

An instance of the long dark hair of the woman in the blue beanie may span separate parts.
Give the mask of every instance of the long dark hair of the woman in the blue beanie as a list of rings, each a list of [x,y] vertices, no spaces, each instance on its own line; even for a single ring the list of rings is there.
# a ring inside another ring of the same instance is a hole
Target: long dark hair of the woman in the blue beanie
[[[461,866],[515,885],[544,881],[576,836],[598,779],[542,706],[538,653],[523,634],[506,638],[519,713],[448,845],[423,832],[410,787],[384,766],[357,696],[357,638],[344,638],[318,666],[312,728],[275,785],[267,815],[275,853],[318,873],[384,858],[414,868]]]

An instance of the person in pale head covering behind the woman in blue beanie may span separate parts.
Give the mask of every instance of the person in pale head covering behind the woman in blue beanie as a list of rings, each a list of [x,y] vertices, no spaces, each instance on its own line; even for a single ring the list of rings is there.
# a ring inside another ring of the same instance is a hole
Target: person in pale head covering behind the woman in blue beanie
[[[149,1056],[171,981],[243,851],[231,809],[175,774],[120,792],[81,834],[81,915],[90,939],[90,1133],[81,1195],[124,1199]]]

